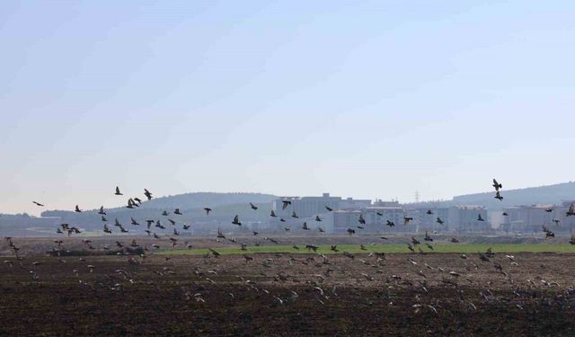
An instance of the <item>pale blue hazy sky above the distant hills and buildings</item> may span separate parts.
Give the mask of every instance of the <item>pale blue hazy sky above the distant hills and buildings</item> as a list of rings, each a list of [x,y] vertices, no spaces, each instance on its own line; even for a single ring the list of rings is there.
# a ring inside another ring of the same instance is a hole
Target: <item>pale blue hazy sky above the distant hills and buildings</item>
[[[116,185],[411,201],[573,180],[574,17],[572,1],[0,2],[0,211],[117,206]]]

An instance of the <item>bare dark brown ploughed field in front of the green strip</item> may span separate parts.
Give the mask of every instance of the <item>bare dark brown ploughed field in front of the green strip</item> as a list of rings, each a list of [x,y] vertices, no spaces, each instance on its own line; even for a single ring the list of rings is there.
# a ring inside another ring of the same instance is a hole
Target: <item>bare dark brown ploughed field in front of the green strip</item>
[[[574,254],[245,256],[3,257],[0,335],[575,335]]]

